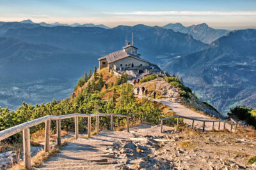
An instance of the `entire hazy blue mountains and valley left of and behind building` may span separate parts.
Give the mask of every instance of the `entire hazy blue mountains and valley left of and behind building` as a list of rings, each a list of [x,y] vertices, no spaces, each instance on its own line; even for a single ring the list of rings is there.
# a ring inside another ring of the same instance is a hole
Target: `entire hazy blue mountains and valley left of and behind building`
[[[131,32],[142,57],[161,66],[207,47],[188,34],[146,25],[42,27],[27,20],[3,23],[0,30],[0,106],[10,108],[68,97],[84,71],[98,66],[98,57],[122,49]]]

